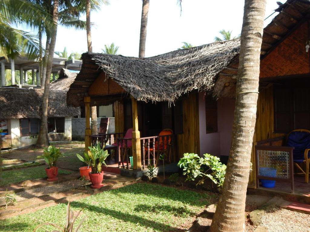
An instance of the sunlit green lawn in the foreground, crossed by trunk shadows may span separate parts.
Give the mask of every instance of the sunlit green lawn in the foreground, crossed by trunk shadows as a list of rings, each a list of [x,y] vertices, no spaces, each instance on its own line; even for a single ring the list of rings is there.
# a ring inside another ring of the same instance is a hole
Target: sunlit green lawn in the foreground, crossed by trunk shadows
[[[73,211],[83,209],[77,224],[87,216],[80,231],[173,231],[209,204],[206,193],[179,190],[157,184],[135,183],[71,202]],[[64,228],[66,204],[44,208],[0,222],[0,231],[32,231],[49,222]],[[46,226],[48,231],[53,227]],[[37,230],[45,231],[45,230]]]

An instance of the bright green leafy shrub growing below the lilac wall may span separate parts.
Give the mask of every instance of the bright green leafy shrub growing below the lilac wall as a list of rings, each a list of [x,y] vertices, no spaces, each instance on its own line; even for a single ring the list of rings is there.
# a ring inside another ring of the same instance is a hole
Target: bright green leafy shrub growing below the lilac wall
[[[185,153],[180,159],[178,166],[183,167],[183,175],[187,175],[186,180],[196,180],[198,184],[203,184],[206,178],[210,178],[217,186],[222,187],[224,183],[226,165],[219,162],[219,158],[210,154],[199,157],[194,153]]]

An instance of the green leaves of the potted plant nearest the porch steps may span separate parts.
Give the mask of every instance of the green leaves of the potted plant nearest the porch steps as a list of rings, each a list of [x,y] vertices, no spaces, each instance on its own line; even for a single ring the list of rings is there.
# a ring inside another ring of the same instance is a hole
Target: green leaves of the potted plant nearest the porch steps
[[[88,147],[88,149],[89,151],[87,153],[84,152],[84,158],[80,154],[77,154],[77,157],[80,161],[91,166],[92,174],[100,173],[101,165],[106,165],[104,161],[109,156],[108,151],[104,151],[104,146],[100,148],[99,143],[96,146]]]

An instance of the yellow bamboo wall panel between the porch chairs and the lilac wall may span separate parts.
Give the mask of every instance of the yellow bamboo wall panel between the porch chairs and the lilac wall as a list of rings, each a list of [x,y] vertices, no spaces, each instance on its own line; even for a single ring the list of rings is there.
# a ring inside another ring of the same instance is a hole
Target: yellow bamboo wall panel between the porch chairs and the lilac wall
[[[192,92],[183,99],[183,134],[177,135],[178,157],[184,153],[199,154],[198,93]]]

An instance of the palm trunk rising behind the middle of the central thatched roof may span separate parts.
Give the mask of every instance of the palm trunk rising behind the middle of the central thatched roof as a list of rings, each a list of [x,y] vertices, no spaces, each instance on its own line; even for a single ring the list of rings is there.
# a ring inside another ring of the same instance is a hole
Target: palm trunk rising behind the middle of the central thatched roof
[[[140,27],[140,43],[139,43],[139,59],[145,57],[145,41],[146,41],[146,28],[148,26],[148,8],[150,0],[143,0],[141,27]]]

